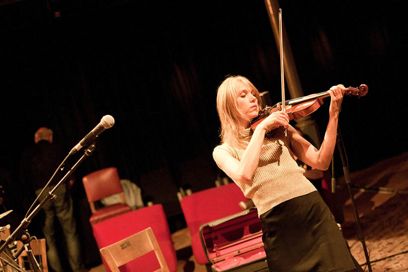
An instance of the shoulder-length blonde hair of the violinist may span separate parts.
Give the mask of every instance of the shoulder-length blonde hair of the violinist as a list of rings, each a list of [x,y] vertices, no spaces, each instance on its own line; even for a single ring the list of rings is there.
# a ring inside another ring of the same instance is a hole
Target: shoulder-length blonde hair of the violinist
[[[259,91],[245,77],[227,76],[217,89],[217,111],[221,122],[221,143],[227,143],[231,146],[240,146],[240,131],[243,129],[240,125],[240,118],[249,119],[238,109],[237,87],[239,84],[244,85],[248,91],[254,91],[258,101],[258,107],[261,108],[262,100]]]

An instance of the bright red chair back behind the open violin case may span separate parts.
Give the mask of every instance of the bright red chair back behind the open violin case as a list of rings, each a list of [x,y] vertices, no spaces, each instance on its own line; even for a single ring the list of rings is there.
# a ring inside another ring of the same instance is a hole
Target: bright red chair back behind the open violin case
[[[200,240],[200,226],[242,211],[239,202],[246,200],[248,198],[235,183],[205,189],[181,199],[180,204],[191,234],[191,247],[197,263],[209,263]]]

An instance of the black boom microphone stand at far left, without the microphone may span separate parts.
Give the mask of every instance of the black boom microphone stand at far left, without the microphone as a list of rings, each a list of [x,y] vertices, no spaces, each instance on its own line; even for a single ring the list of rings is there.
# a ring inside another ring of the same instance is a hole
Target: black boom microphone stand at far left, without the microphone
[[[14,232],[8,236],[8,238],[5,240],[4,244],[1,245],[0,247],[0,253],[3,252],[3,250],[11,243],[11,241],[15,240],[19,235],[24,246],[19,249],[14,255],[13,259],[15,260],[21,252],[24,250],[27,251],[27,257],[28,257],[28,262],[30,265],[31,271],[34,272],[41,272],[41,268],[38,265],[37,261],[34,258],[34,254],[32,253],[31,247],[30,247],[30,235],[27,231],[28,225],[31,223],[32,218],[41,210],[41,208],[44,206],[44,204],[50,200],[56,198],[56,195],[54,192],[57,190],[57,188],[64,183],[68,179],[69,176],[71,176],[72,172],[77,169],[77,167],[85,160],[85,158],[89,157],[95,150],[95,143],[92,143],[86,150],[84,155],[78,160],[78,162],[65,174],[65,176],[59,181],[54,188],[52,188],[51,191],[48,192],[48,194],[44,197],[44,199],[35,207],[35,209],[28,215],[26,216],[20,223],[20,225],[14,230]]]

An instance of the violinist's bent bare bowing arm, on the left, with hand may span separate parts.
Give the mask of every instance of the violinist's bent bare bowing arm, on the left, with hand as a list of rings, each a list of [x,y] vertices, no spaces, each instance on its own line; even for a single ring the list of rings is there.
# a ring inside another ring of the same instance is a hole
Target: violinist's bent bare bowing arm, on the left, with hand
[[[212,153],[215,163],[232,180],[243,183],[251,182],[258,168],[259,155],[265,138],[265,132],[269,127],[281,125],[288,127],[288,115],[282,111],[272,113],[255,128],[240,161],[232,157],[227,151],[216,149]]]

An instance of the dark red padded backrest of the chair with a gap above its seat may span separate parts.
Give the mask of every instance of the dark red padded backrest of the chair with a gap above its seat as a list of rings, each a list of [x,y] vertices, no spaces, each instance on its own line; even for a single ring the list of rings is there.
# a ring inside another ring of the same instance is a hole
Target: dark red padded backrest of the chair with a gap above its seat
[[[115,167],[104,168],[82,178],[84,189],[87,194],[88,202],[92,213],[96,212],[94,202],[102,198],[120,193],[122,203],[125,204],[125,197],[122,185],[120,184],[119,174]]]

